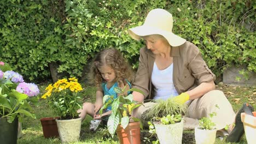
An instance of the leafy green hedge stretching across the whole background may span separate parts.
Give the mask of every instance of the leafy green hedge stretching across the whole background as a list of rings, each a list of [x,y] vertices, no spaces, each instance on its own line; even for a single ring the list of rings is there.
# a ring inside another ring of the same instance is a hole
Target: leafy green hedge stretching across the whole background
[[[196,44],[215,74],[230,64],[256,71],[255,1],[60,0],[0,1],[0,60],[25,79],[49,79],[49,63],[59,72],[82,76],[84,66],[106,47],[117,47],[137,68],[142,43],[127,29],[147,13],[173,14],[173,32]]]

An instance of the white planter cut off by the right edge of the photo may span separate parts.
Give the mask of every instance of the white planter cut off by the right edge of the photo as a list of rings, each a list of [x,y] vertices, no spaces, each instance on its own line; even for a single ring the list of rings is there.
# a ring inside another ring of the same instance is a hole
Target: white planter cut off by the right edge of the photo
[[[256,111],[253,112],[254,116],[241,113],[243,128],[245,129],[246,140],[248,144],[256,142]]]

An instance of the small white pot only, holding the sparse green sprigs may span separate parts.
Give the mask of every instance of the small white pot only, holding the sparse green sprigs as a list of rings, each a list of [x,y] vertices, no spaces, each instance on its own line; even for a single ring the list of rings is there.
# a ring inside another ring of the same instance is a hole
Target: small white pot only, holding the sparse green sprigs
[[[217,130],[203,130],[200,127],[195,128],[196,144],[213,144],[216,139]]]

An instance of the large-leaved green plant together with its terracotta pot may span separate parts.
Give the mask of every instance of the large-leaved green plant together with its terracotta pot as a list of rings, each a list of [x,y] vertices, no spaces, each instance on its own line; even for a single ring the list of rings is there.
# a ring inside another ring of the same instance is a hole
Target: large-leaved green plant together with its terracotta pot
[[[102,114],[104,109],[112,106],[112,113],[107,122],[110,135],[113,137],[117,132],[120,143],[141,143],[140,128],[142,128],[142,124],[138,118],[130,117],[129,113],[136,107],[141,106],[142,103],[133,101],[133,95],[127,95],[127,92],[143,92],[136,88],[125,91],[125,88],[121,89],[120,87],[115,87],[114,91],[119,94],[119,97],[114,99],[113,95],[104,95],[104,103],[100,110],[100,114]],[[130,122],[130,119],[133,119],[134,122]]]

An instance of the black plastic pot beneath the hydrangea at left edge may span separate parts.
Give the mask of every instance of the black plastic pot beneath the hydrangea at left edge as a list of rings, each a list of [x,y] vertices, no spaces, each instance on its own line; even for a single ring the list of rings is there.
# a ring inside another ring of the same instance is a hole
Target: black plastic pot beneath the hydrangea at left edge
[[[7,118],[0,118],[0,142],[1,144],[16,144],[18,138],[18,118],[12,123]]]

